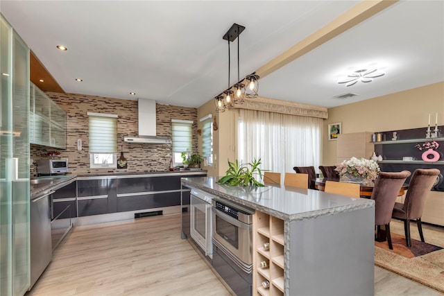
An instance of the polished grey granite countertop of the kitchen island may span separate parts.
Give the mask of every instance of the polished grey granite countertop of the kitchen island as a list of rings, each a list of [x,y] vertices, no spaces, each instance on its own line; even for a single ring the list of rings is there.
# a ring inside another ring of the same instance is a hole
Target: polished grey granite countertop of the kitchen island
[[[182,184],[257,209],[282,220],[305,220],[374,207],[366,198],[325,193],[291,186],[242,187],[217,183],[219,177],[182,178]]]

